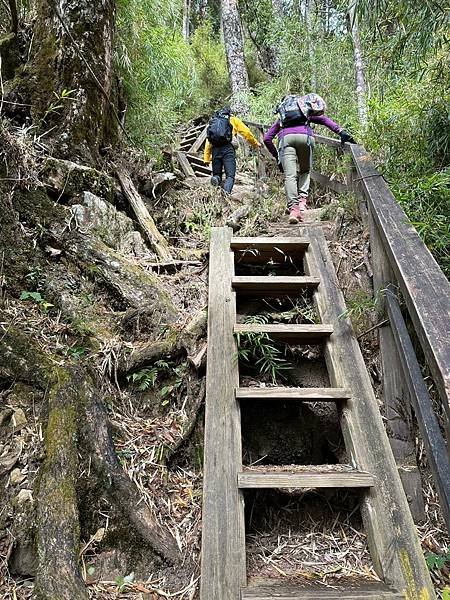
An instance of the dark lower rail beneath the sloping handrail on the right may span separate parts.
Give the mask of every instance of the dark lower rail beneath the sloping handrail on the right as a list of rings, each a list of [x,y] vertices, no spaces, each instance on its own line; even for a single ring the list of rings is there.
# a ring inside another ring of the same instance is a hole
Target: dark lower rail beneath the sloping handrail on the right
[[[410,391],[411,402],[416,413],[425,452],[430,464],[434,482],[447,530],[450,532],[450,460],[447,448],[434,414],[433,404],[423,380],[419,363],[403,320],[398,301],[392,291],[388,291],[386,302],[395,343]]]

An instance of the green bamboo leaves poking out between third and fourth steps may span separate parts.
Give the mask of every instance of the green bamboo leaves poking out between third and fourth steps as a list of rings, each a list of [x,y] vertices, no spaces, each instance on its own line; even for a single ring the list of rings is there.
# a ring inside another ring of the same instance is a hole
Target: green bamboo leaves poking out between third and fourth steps
[[[246,324],[253,325],[267,322],[266,315],[255,315],[245,319]],[[236,343],[237,360],[248,366],[255,366],[261,375],[268,375],[273,383],[283,378],[283,371],[292,368],[267,333],[236,333]]]

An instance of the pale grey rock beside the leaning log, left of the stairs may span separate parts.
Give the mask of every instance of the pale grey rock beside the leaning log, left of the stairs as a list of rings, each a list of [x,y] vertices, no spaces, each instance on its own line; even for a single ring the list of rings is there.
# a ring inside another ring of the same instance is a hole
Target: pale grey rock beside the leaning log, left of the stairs
[[[148,254],[133,221],[91,192],[83,192],[81,204],[72,206],[77,223],[85,232],[95,233],[110,248],[123,254]]]

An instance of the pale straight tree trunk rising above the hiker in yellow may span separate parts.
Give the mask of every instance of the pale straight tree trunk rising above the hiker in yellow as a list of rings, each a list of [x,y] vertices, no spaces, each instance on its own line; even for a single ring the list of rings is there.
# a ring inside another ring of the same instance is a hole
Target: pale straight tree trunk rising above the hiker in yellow
[[[248,113],[249,81],[244,60],[244,37],[237,0],[222,0],[222,29],[231,81],[231,108]]]

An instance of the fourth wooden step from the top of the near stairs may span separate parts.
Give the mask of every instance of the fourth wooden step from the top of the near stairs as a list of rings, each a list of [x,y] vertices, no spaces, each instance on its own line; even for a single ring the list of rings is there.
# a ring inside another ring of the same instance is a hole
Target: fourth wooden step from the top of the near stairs
[[[351,398],[350,390],[343,388],[236,388],[238,400],[300,400],[301,402],[336,402]]]

